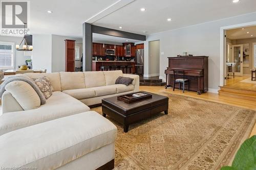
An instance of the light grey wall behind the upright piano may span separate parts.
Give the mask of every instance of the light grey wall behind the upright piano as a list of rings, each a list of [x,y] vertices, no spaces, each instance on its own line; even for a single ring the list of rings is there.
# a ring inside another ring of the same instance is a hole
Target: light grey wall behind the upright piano
[[[148,75],[148,41],[160,40],[160,76],[165,80],[167,57],[188,52],[194,56],[206,55],[208,59],[209,91],[217,92],[220,85],[220,28],[256,20],[256,13],[230,17],[200,25],[152,34],[144,42],[144,74]],[[172,24],[172,23],[170,23]]]

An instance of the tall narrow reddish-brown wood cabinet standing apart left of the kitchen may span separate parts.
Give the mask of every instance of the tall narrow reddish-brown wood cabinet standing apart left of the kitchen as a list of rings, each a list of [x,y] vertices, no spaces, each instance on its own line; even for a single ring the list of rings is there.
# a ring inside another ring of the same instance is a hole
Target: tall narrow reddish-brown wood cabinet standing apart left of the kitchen
[[[75,71],[75,41],[65,40],[65,70]]]

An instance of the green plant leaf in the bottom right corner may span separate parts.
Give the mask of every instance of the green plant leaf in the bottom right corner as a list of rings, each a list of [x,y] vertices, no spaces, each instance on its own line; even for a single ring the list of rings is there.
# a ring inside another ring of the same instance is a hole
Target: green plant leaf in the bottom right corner
[[[256,169],[256,135],[246,139],[239,148],[231,166],[221,170],[254,170]]]

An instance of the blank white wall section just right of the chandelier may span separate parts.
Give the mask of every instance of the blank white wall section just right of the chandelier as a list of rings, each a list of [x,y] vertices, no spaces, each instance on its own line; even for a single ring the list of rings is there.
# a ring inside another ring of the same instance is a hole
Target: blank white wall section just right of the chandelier
[[[52,72],[52,35],[33,35],[33,69]]]

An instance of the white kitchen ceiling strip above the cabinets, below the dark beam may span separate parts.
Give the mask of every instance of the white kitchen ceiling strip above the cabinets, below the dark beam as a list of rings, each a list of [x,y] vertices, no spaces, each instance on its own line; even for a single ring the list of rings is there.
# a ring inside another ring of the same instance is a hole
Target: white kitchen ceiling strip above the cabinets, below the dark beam
[[[137,43],[137,42],[141,42],[141,41],[93,33],[93,42],[121,45],[123,42]]]

